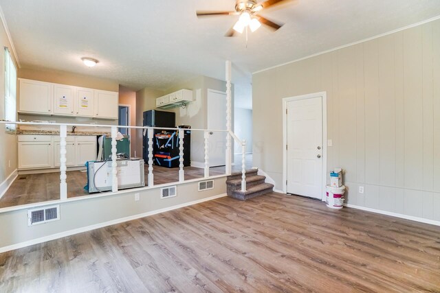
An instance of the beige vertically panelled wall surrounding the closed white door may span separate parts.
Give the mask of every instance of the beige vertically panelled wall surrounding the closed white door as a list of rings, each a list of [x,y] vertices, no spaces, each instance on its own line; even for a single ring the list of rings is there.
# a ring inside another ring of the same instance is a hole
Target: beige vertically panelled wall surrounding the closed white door
[[[440,220],[439,52],[437,20],[254,74],[254,164],[282,189],[281,101],[327,91],[349,204]]]

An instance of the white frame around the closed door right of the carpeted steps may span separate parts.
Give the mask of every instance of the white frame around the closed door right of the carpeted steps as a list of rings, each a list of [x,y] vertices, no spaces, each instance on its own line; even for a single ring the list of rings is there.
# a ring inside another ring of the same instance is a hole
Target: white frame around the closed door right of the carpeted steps
[[[325,200],[325,186],[327,185],[327,92],[309,93],[283,98],[283,193],[287,194],[287,103],[300,99],[322,98],[322,198]]]

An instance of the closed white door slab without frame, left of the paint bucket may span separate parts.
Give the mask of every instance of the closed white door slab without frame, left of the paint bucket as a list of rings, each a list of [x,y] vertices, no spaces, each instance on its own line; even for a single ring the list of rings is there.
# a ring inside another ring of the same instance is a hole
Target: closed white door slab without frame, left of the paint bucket
[[[322,198],[322,97],[287,102],[287,193]]]

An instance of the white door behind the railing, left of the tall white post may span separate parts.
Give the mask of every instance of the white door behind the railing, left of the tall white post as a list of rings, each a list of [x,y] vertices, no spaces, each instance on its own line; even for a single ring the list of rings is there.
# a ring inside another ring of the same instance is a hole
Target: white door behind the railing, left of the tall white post
[[[208,89],[208,129],[226,130],[226,93]],[[209,166],[226,164],[226,132],[210,132]]]

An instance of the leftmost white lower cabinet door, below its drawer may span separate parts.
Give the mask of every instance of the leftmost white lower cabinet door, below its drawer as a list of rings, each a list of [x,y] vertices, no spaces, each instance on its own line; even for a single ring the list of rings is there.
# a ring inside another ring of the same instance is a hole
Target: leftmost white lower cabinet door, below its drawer
[[[53,167],[53,150],[53,145],[49,141],[19,142],[19,169]]]

